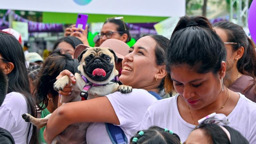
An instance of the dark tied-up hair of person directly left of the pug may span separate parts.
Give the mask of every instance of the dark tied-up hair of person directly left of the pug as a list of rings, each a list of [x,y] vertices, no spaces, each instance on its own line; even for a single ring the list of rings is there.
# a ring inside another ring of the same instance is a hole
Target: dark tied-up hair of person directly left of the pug
[[[60,50],[53,51],[43,62],[41,71],[38,74],[36,86],[36,104],[40,109],[48,106],[48,93],[58,96],[58,92],[53,89],[56,77],[61,71],[67,69],[71,73],[78,72],[79,63],[77,59],[72,59],[70,54],[61,54]]]

